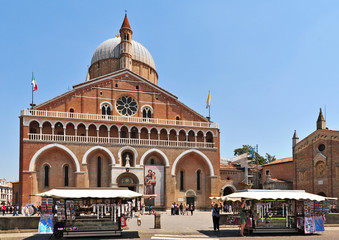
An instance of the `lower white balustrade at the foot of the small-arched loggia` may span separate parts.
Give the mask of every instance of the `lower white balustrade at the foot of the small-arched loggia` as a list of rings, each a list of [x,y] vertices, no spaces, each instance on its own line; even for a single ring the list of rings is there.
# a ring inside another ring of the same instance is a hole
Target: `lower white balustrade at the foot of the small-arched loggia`
[[[213,148],[210,142],[188,142],[157,139],[137,139],[137,138],[113,138],[97,136],[74,136],[74,135],[53,135],[29,133],[28,140],[42,142],[67,142],[67,143],[100,143],[117,145],[145,145],[160,147],[182,147],[182,148]]]

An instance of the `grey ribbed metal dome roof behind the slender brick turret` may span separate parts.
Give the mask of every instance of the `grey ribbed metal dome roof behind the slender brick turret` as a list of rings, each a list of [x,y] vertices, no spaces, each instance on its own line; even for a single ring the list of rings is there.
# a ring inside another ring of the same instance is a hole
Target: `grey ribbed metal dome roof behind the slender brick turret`
[[[118,37],[101,43],[94,51],[91,65],[103,59],[120,58],[120,41],[121,38]],[[156,70],[152,55],[143,45],[134,40],[132,40],[132,59],[145,63]]]

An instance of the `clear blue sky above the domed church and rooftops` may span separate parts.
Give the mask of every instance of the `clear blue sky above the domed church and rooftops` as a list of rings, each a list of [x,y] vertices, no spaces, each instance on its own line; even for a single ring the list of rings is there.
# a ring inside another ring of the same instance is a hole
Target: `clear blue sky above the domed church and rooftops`
[[[159,86],[219,124],[221,156],[243,144],[292,156],[319,108],[339,130],[339,1],[1,1],[0,178],[19,179],[19,116],[85,81],[120,29],[152,54]],[[325,111],[326,109],[326,111]]]

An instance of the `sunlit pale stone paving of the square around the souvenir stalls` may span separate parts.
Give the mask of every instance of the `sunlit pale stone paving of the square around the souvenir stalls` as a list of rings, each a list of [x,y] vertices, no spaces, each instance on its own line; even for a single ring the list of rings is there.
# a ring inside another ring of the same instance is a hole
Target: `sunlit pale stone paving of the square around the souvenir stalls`
[[[121,237],[100,237],[92,239],[163,239],[163,240],[218,240],[241,239],[238,226],[221,226],[220,232],[213,231],[210,212],[195,211],[193,216],[171,216],[169,212],[161,212],[161,229],[154,229],[154,215],[141,216],[141,226],[137,225],[137,218],[127,221],[128,229],[125,229]],[[296,235],[296,234],[257,234],[246,239],[339,239],[339,227],[326,227],[321,234]],[[37,231],[1,232],[0,239],[49,239],[50,234],[37,234]],[[54,238],[52,238],[54,239]],[[70,238],[80,239],[80,238]]]

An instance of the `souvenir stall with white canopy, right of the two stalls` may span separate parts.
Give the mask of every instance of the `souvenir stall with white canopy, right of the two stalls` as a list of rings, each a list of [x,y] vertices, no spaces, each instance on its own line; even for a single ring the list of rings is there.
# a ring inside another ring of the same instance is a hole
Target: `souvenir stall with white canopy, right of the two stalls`
[[[328,212],[325,197],[304,190],[250,189],[217,200],[231,201],[229,224],[239,224],[241,202],[246,200],[246,229],[253,233],[324,231],[324,215]]]

